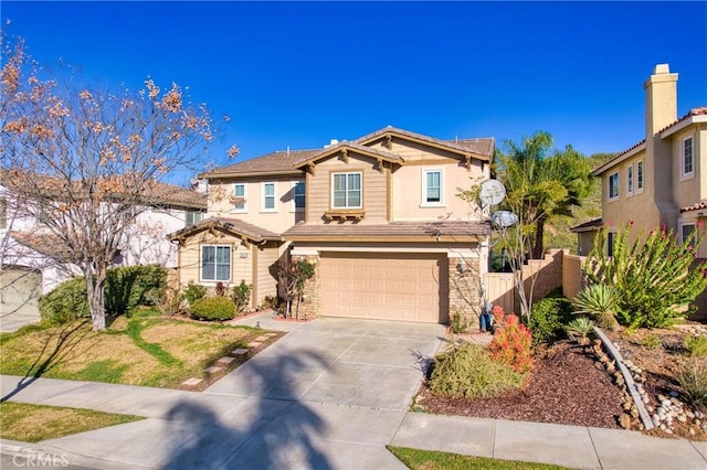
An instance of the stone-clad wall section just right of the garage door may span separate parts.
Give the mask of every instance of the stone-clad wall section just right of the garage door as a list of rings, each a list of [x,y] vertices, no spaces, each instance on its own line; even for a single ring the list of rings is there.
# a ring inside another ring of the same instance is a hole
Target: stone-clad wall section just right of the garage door
[[[457,266],[464,267],[457,268]],[[478,329],[482,307],[478,259],[449,258],[449,275],[450,323],[454,320],[454,316],[460,313],[471,330]]]

